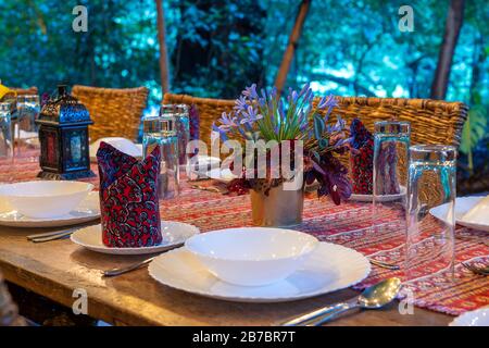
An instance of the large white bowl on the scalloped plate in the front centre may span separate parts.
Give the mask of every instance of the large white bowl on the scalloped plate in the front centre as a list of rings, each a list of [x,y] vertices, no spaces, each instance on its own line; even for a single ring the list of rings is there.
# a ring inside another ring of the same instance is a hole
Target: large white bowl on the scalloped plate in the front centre
[[[185,246],[222,281],[263,286],[292,274],[318,243],[315,237],[298,231],[242,227],[197,235]]]

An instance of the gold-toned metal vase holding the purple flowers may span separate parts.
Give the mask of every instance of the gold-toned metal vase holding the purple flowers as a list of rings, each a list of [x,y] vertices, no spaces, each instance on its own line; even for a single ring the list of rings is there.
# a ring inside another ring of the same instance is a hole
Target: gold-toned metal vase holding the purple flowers
[[[285,190],[283,185],[269,190],[268,196],[251,190],[251,214],[256,226],[287,227],[302,222],[304,190]]]

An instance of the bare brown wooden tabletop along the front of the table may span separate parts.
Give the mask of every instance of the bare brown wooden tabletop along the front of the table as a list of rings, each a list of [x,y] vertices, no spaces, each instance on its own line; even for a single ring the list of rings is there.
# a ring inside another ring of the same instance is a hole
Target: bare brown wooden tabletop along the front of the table
[[[113,278],[100,271],[142,260],[96,253],[70,239],[33,244],[26,235],[53,229],[0,226],[0,270],[4,277],[72,307],[75,289],[88,295],[88,315],[116,325],[273,325],[286,318],[352,297],[351,289],[286,303],[238,303],[208,299],[163,286],[147,269]],[[452,316],[414,308],[400,314],[398,303],[352,313],[329,325],[447,325]]]

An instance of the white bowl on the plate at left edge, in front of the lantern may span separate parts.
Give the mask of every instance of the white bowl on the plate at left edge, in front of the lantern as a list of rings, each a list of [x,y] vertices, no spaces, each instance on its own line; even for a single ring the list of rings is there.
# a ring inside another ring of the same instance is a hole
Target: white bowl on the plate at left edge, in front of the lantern
[[[48,219],[70,213],[92,188],[80,182],[25,182],[1,185],[0,197],[25,216]]]

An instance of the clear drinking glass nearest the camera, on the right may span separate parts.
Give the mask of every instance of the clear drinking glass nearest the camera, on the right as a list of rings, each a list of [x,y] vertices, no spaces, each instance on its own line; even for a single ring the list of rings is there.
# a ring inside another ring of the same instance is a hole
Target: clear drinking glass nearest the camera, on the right
[[[456,149],[444,145],[410,148],[406,276],[438,273],[453,278],[456,196]],[[429,214],[442,206],[442,220]]]

